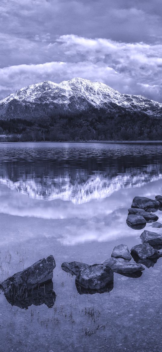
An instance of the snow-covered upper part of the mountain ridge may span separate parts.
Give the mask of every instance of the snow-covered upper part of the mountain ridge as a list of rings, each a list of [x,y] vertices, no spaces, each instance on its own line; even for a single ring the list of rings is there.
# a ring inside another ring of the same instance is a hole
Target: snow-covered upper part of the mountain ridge
[[[112,112],[118,107],[131,112],[144,112],[161,117],[162,104],[141,95],[121,94],[102,82],[91,82],[75,77],[69,81],[54,83],[44,81],[20,88],[0,101],[0,113],[5,116],[8,104],[17,101],[26,103],[60,106],[69,111],[85,111],[89,108]]]

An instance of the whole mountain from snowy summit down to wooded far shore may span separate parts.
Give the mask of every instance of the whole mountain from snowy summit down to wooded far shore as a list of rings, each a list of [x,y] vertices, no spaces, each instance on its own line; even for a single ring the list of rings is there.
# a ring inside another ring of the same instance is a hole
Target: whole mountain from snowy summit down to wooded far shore
[[[35,128],[31,140],[161,139],[161,116],[161,103],[83,78],[31,84],[0,101],[0,127],[26,140]]]

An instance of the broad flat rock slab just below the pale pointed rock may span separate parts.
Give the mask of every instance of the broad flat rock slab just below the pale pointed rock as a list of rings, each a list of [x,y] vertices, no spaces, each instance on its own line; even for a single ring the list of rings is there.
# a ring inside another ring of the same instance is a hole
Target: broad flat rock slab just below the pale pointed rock
[[[144,270],[143,265],[132,263],[122,258],[106,259],[103,264],[109,266],[112,271],[129,277],[140,277],[142,275],[141,271]]]

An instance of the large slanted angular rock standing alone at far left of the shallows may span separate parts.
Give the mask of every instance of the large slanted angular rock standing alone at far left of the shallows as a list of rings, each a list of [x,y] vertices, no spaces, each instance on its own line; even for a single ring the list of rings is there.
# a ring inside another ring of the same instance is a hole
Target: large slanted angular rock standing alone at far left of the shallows
[[[8,277],[1,283],[0,287],[5,294],[17,293],[20,289],[33,289],[34,286],[51,280],[55,267],[56,263],[53,256],[40,259],[29,268]]]

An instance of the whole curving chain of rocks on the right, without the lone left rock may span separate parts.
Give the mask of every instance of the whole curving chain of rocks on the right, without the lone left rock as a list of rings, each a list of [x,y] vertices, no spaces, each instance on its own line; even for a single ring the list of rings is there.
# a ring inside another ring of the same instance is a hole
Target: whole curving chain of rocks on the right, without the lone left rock
[[[158,216],[154,214],[158,209],[162,210],[162,196],[154,199],[135,197],[131,208],[128,209],[127,224],[134,229],[142,229],[147,222],[156,222]],[[156,222],[154,227],[162,227]],[[131,248],[121,244],[115,246],[111,258],[102,264],[88,265],[81,262],[64,262],[61,268],[72,275],[76,275],[76,288],[80,294],[110,291],[113,288],[114,272],[128,276],[140,277],[145,265],[147,268],[154,266],[157,259],[162,257],[162,235],[151,231],[143,231],[142,244]],[[135,262],[130,262],[131,259]]]

